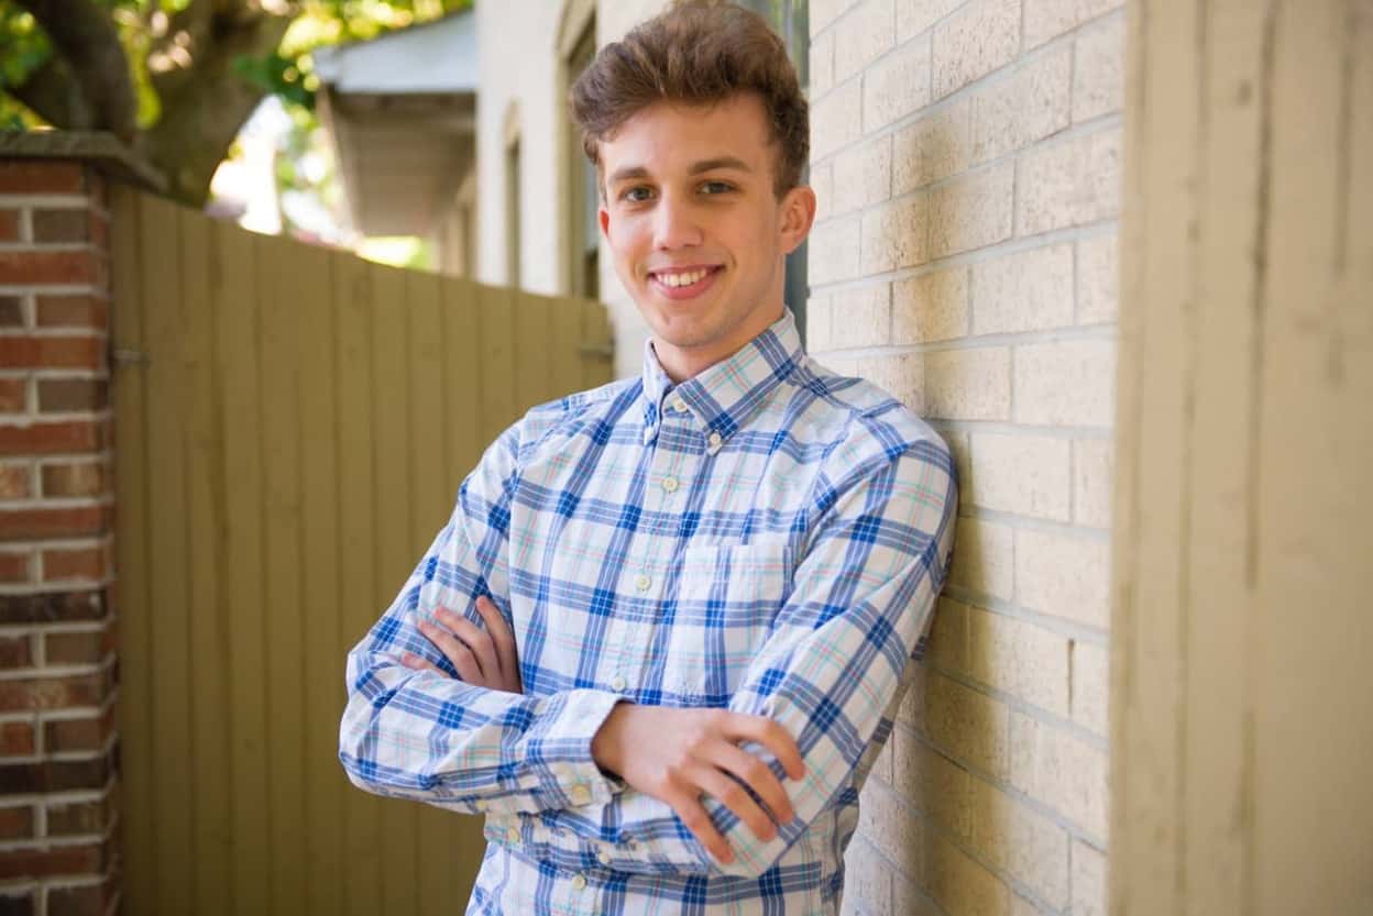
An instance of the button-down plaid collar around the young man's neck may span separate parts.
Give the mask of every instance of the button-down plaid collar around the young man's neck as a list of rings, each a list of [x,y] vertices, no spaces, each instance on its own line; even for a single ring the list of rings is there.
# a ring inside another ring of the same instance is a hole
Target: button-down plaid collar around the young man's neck
[[[644,427],[652,435],[663,415],[663,400],[674,394],[724,442],[757,413],[772,391],[803,358],[800,334],[789,309],[733,356],[673,385],[658,361],[654,342],[644,343]]]

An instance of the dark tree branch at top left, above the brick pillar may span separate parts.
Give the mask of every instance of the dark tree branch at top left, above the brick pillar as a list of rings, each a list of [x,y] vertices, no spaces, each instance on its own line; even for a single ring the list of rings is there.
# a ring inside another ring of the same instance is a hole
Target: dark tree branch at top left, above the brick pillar
[[[91,0],[18,3],[33,14],[54,49],[66,60],[92,115],[89,126],[130,141],[137,130],[137,102],[129,59],[110,16]]]

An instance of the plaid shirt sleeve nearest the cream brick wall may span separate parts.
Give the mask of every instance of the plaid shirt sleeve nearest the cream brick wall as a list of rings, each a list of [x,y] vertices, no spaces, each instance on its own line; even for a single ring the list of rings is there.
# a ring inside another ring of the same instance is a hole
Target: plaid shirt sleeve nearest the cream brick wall
[[[942,444],[921,442],[827,489],[820,499],[828,507],[792,592],[729,703],[769,715],[796,739],[806,764],[799,781],[784,777],[761,746],[744,746],[783,779],[796,817],[759,840],[706,797],[706,810],[735,850],[724,865],[666,802],[632,788],[601,806],[545,814],[582,842],[601,843],[610,868],[757,878],[851,787],[869,744],[886,739],[883,722],[947,573],[954,471]]]

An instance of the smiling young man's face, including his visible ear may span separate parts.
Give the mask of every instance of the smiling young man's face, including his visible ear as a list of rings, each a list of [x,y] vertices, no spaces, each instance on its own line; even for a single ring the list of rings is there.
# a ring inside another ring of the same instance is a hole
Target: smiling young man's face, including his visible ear
[[[752,93],[652,104],[601,141],[601,232],[673,380],[733,354],[781,317],[783,260],[816,196],[773,191],[777,148]]]

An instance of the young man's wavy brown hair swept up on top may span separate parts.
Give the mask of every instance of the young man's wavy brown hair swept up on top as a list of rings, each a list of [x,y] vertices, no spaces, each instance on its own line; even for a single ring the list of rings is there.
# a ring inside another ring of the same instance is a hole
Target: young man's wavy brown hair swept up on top
[[[768,113],[781,198],[800,184],[810,155],[810,108],[785,45],[755,12],[718,0],[674,3],[601,48],[568,96],[582,148],[600,169],[600,141],[655,102],[708,106],[740,92],[755,92]]]

